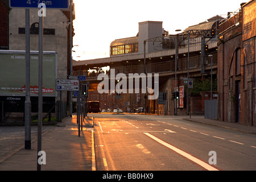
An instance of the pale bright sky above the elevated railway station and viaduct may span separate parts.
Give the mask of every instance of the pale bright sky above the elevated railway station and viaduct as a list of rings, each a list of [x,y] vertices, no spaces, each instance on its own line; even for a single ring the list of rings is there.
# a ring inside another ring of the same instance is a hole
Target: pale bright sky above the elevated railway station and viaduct
[[[115,39],[136,36],[139,22],[160,21],[169,34],[228,12],[236,11],[249,0],[73,0],[74,60],[110,57],[110,43]]]

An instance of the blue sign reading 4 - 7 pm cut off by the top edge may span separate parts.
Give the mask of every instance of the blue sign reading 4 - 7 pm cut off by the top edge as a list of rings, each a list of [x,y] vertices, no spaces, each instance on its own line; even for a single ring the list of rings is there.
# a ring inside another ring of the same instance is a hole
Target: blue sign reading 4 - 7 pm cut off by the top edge
[[[11,8],[38,8],[39,3],[44,3],[46,8],[68,9],[69,0],[9,0]]]

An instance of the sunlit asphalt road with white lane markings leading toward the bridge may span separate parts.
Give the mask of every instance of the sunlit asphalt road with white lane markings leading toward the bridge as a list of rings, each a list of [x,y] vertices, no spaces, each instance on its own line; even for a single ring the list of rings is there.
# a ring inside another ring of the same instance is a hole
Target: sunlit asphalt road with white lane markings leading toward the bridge
[[[256,170],[256,137],[181,117],[92,114],[98,171]]]

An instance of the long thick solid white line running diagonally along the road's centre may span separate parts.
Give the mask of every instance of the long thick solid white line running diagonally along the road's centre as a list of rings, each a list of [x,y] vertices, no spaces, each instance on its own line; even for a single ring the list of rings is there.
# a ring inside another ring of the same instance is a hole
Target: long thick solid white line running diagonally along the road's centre
[[[179,148],[176,148],[175,146],[172,146],[171,144],[164,142],[163,140],[155,137],[154,135],[151,135],[149,133],[143,133],[143,134],[154,139],[156,142],[163,144],[163,146],[166,146],[166,147],[170,148],[171,150],[177,152],[177,154],[180,154],[180,155],[184,156],[185,158],[191,160],[192,162],[199,164],[201,167],[203,167],[209,171],[218,171],[217,168],[214,168],[213,166],[210,166],[209,164],[203,162],[202,160],[195,158],[194,156],[188,154],[187,152],[184,152],[184,151],[180,150]]]

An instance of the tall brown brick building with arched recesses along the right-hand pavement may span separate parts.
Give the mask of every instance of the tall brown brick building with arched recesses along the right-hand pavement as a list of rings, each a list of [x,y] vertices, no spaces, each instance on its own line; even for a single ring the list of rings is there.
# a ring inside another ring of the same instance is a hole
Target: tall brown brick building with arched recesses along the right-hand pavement
[[[256,1],[220,22],[218,119],[256,125]]]

